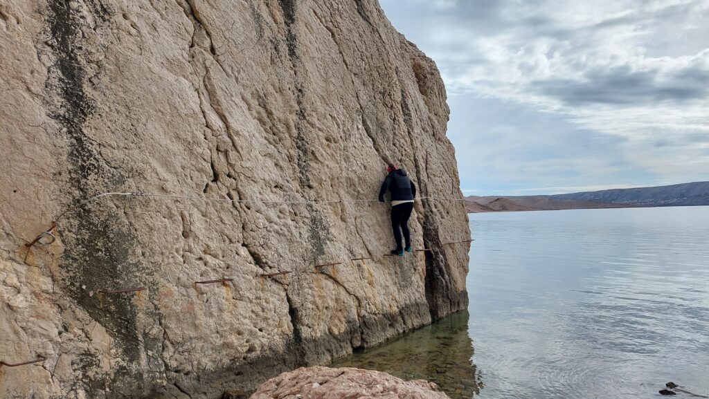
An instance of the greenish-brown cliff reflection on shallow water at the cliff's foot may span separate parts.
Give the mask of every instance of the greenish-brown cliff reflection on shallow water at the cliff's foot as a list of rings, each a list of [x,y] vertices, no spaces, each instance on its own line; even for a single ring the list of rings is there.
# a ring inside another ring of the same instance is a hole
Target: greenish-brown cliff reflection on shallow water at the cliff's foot
[[[472,363],[468,319],[467,311],[455,313],[332,366],[384,371],[407,381],[423,378],[437,383],[452,399],[471,398],[483,383]]]

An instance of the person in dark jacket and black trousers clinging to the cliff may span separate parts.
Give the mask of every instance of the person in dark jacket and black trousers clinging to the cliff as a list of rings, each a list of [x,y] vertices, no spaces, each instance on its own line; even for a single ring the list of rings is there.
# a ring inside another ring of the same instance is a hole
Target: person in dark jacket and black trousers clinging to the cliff
[[[386,168],[386,179],[379,190],[379,202],[384,202],[384,193],[389,189],[391,193],[391,228],[396,240],[396,249],[391,251],[403,257],[403,252],[411,252],[411,232],[408,230],[408,218],[413,210],[413,198],[416,198],[416,186],[408,178],[404,169],[398,169],[395,164]],[[406,247],[401,247],[401,232],[406,242]]]

